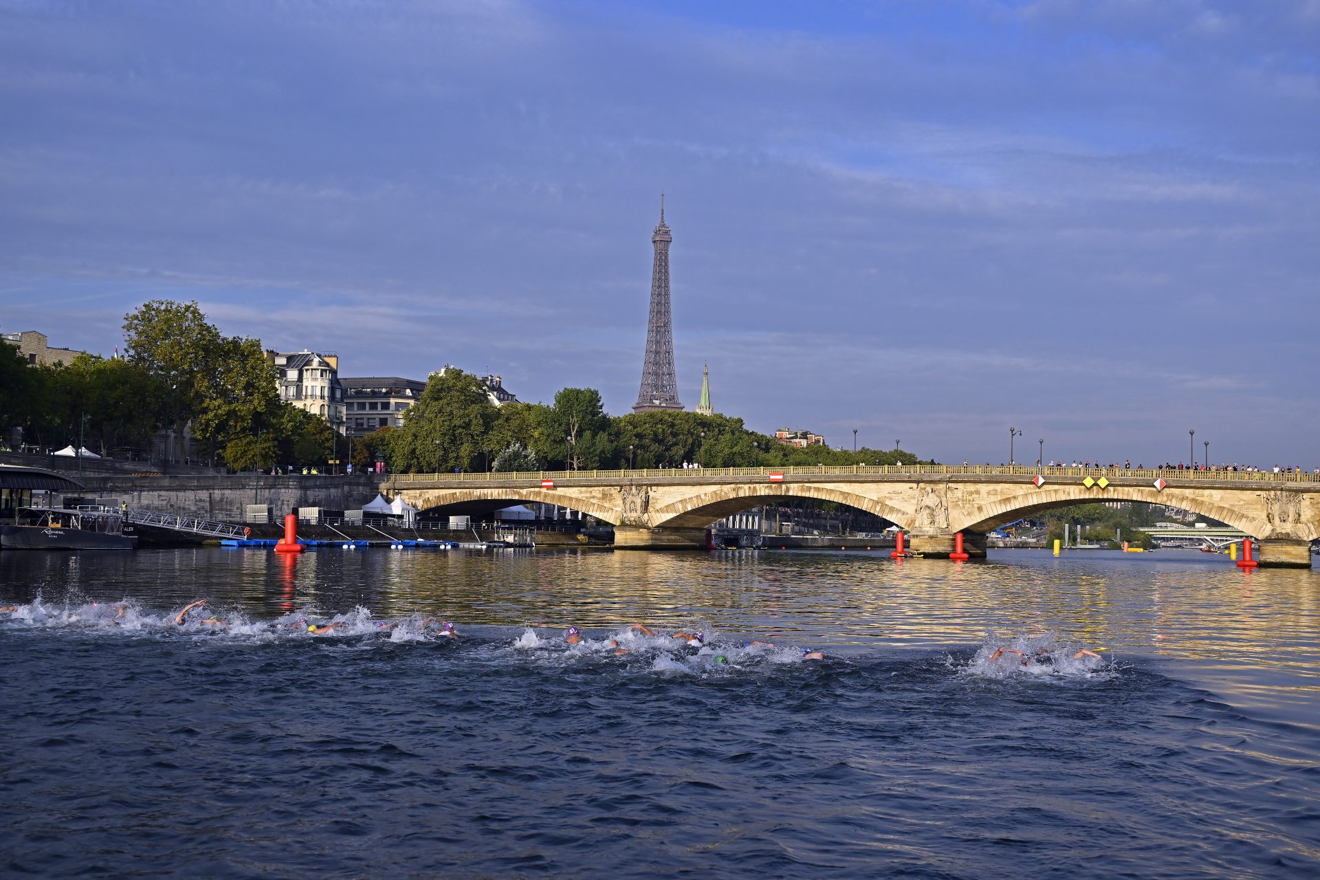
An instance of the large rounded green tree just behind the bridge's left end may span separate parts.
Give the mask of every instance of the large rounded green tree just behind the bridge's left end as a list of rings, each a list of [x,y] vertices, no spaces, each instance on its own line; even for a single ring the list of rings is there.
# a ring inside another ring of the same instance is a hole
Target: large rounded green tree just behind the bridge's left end
[[[474,470],[498,418],[486,385],[461,369],[433,373],[404,426],[389,435],[389,466],[396,471]]]

